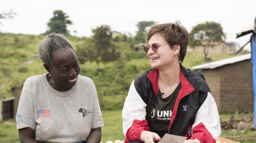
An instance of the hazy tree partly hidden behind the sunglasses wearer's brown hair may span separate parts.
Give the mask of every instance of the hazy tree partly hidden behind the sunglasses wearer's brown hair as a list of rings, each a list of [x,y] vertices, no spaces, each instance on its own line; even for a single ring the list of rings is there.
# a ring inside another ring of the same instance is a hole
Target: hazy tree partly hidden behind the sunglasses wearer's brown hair
[[[146,28],[151,27],[152,25],[156,24],[157,22],[154,21],[140,21],[136,25],[138,27],[137,34],[134,37],[134,40],[138,43],[144,43],[146,40]]]

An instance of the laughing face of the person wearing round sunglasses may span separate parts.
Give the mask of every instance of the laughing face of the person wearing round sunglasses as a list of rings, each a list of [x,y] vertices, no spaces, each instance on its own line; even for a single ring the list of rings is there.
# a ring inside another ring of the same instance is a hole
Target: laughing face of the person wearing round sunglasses
[[[179,62],[179,59],[177,58],[177,48],[174,48],[175,50],[171,50],[170,46],[160,34],[156,33],[152,35],[152,37],[148,41],[148,46],[151,46],[154,43],[163,45],[158,45],[157,52],[154,52],[152,48],[150,48],[147,53],[148,58],[151,61],[151,66],[153,68],[161,70]],[[174,56],[174,53],[176,54],[176,56]]]

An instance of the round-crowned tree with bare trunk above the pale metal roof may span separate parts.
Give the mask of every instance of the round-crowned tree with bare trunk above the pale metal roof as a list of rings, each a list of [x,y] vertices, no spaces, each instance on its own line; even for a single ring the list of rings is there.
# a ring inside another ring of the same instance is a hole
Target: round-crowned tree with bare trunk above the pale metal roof
[[[222,27],[216,22],[205,22],[193,27],[189,33],[189,45],[192,47],[204,47],[204,59],[207,60],[209,48],[225,41],[226,34],[222,31]]]

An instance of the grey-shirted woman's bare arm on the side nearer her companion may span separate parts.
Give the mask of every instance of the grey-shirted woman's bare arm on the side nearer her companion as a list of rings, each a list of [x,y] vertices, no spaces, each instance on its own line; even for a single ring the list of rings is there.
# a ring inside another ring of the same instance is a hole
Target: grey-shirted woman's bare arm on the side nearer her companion
[[[99,143],[101,140],[101,127],[91,129],[90,135],[86,143]]]

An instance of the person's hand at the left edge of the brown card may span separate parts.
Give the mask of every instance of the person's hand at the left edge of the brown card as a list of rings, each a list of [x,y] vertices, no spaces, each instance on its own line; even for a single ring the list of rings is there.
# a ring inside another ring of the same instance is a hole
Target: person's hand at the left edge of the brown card
[[[140,140],[145,143],[155,143],[154,141],[161,140],[161,137],[159,137],[155,132],[142,131],[140,134]]]

